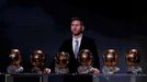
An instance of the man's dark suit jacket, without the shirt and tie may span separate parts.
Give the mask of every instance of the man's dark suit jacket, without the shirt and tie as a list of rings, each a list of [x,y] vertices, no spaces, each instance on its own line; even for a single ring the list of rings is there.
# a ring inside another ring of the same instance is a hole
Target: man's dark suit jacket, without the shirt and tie
[[[93,55],[93,67],[99,69],[100,68],[99,56],[98,56],[98,50],[97,50],[97,46],[95,46],[94,40],[92,38],[87,37],[87,36],[82,36],[79,51],[81,49],[89,49],[92,52],[92,55]],[[69,71],[70,71],[70,73],[77,72],[77,68],[79,66],[79,62],[75,58],[75,55],[74,55],[74,51],[72,51],[72,37],[70,37],[69,39],[66,39],[63,43],[59,50],[60,51],[66,51],[70,55]]]

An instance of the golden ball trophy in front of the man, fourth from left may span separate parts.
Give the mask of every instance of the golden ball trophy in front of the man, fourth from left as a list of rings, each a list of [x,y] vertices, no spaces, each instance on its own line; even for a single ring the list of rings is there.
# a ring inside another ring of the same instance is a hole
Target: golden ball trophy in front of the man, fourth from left
[[[92,67],[92,52],[89,49],[82,49],[78,55],[78,60],[80,66],[78,67],[78,73],[93,73],[94,69]]]

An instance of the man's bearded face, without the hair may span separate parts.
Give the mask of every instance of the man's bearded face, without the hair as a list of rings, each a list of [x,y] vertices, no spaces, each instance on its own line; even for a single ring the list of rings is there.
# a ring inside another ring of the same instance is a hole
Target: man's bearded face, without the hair
[[[80,21],[72,21],[70,31],[72,32],[74,35],[79,35],[83,31],[83,26],[81,25]]]

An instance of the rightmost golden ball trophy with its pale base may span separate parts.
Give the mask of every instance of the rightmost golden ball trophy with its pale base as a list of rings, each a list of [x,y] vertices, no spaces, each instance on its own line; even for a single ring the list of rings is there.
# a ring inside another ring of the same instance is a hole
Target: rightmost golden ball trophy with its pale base
[[[140,73],[142,72],[142,68],[139,66],[140,63],[140,52],[137,49],[129,49],[126,52],[126,63],[127,63],[127,72],[128,73]]]

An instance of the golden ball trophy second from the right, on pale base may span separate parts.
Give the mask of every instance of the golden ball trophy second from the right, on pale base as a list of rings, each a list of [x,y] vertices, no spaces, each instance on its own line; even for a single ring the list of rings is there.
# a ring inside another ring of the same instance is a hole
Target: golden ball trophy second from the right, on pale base
[[[104,74],[114,74],[120,71],[120,68],[116,67],[117,63],[117,54],[114,49],[108,49],[103,54],[103,62],[104,67],[102,68],[102,72]]]

